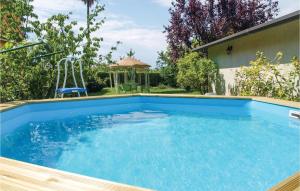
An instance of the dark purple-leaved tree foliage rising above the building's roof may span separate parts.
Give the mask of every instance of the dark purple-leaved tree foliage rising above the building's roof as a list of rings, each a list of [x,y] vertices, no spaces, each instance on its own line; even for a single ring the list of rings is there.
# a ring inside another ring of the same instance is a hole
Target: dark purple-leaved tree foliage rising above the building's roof
[[[208,43],[264,23],[278,13],[273,0],[175,0],[165,27],[171,58],[177,60],[193,42]]]

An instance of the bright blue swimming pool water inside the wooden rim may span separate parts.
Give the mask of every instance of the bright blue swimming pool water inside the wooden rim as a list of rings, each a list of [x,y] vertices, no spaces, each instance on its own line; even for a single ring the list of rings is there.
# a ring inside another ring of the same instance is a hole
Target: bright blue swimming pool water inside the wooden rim
[[[128,97],[1,113],[1,156],[161,190],[266,190],[300,170],[300,122],[249,100]]]

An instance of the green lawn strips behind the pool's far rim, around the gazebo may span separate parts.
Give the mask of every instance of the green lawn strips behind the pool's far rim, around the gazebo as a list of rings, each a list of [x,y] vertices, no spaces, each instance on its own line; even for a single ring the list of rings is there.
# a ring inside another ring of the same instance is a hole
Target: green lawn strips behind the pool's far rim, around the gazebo
[[[200,94],[198,91],[191,91],[187,92],[185,89],[182,88],[160,88],[160,87],[151,87],[150,93],[153,94]],[[116,95],[115,89],[111,88],[103,88],[100,92],[96,93],[89,93],[89,96],[101,96],[101,95]],[[131,94],[131,92],[128,93],[118,93],[118,94]]]

